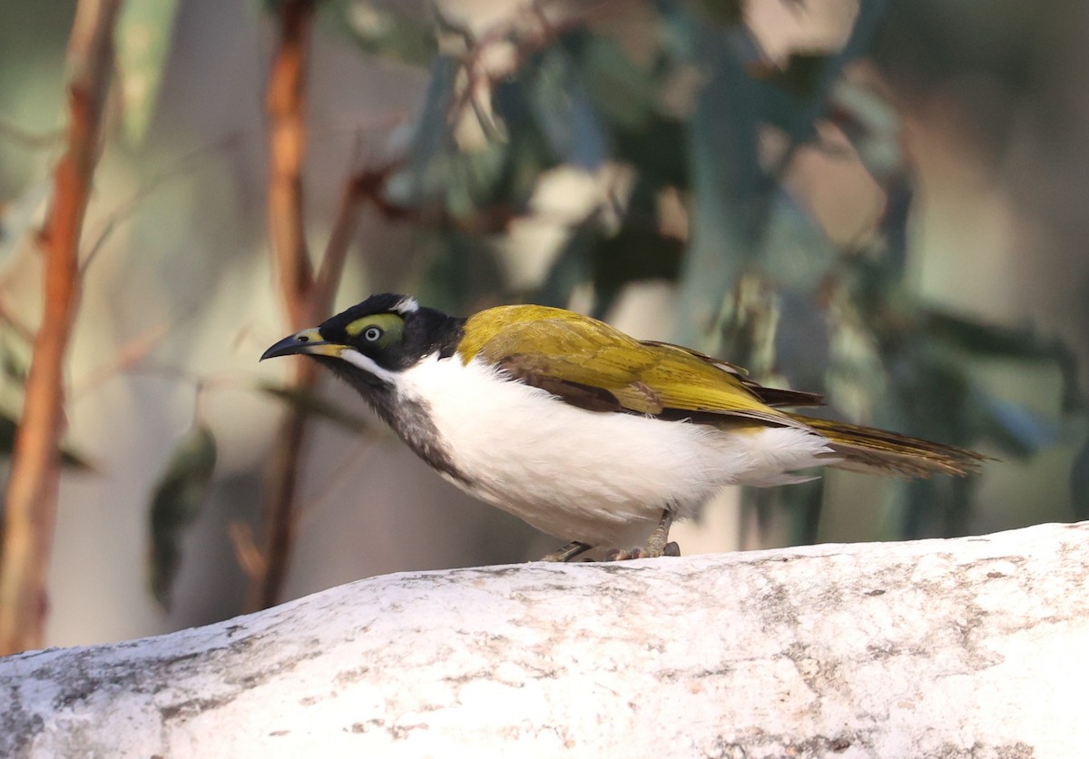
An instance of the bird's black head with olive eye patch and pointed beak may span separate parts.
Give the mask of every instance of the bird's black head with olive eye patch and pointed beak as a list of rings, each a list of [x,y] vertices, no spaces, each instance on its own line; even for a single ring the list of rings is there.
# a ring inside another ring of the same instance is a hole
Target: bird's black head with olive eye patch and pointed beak
[[[399,372],[432,353],[449,356],[463,319],[424,308],[406,295],[382,293],[287,335],[261,355],[307,355],[327,364],[359,390],[396,384]]]

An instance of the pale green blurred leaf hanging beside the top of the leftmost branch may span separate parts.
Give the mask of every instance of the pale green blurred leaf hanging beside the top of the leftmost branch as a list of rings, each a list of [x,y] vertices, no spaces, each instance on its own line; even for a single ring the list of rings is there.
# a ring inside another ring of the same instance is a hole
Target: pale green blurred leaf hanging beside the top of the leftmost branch
[[[178,0],[126,2],[118,20],[118,73],[124,99],[122,126],[132,145],[144,140],[155,113],[178,15]]]

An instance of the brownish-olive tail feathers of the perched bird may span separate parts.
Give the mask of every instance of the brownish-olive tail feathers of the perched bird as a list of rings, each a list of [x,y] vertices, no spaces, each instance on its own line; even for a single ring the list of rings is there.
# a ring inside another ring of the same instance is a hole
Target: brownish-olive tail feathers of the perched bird
[[[828,438],[829,454],[843,461],[831,466],[893,477],[929,477],[933,473],[966,475],[979,469],[987,456],[955,445],[943,445],[920,438],[909,438],[873,427],[818,419],[792,414]]]

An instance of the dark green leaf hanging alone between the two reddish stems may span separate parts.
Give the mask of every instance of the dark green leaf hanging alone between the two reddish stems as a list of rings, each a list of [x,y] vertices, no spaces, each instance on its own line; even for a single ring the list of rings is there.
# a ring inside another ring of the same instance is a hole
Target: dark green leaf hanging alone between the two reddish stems
[[[151,495],[151,593],[170,608],[171,590],[182,561],[181,540],[200,513],[216,469],[216,439],[204,425],[194,426],[174,448]]]

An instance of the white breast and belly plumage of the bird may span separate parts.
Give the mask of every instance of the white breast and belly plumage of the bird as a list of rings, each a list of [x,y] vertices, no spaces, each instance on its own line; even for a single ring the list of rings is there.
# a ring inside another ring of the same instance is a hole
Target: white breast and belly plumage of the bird
[[[827,441],[776,427],[708,425],[589,412],[457,356],[425,358],[402,393],[427,399],[436,430],[472,494],[538,529],[591,546],[639,544],[670,507],[678,516],[727,485],[781,485],[831,463]]]

